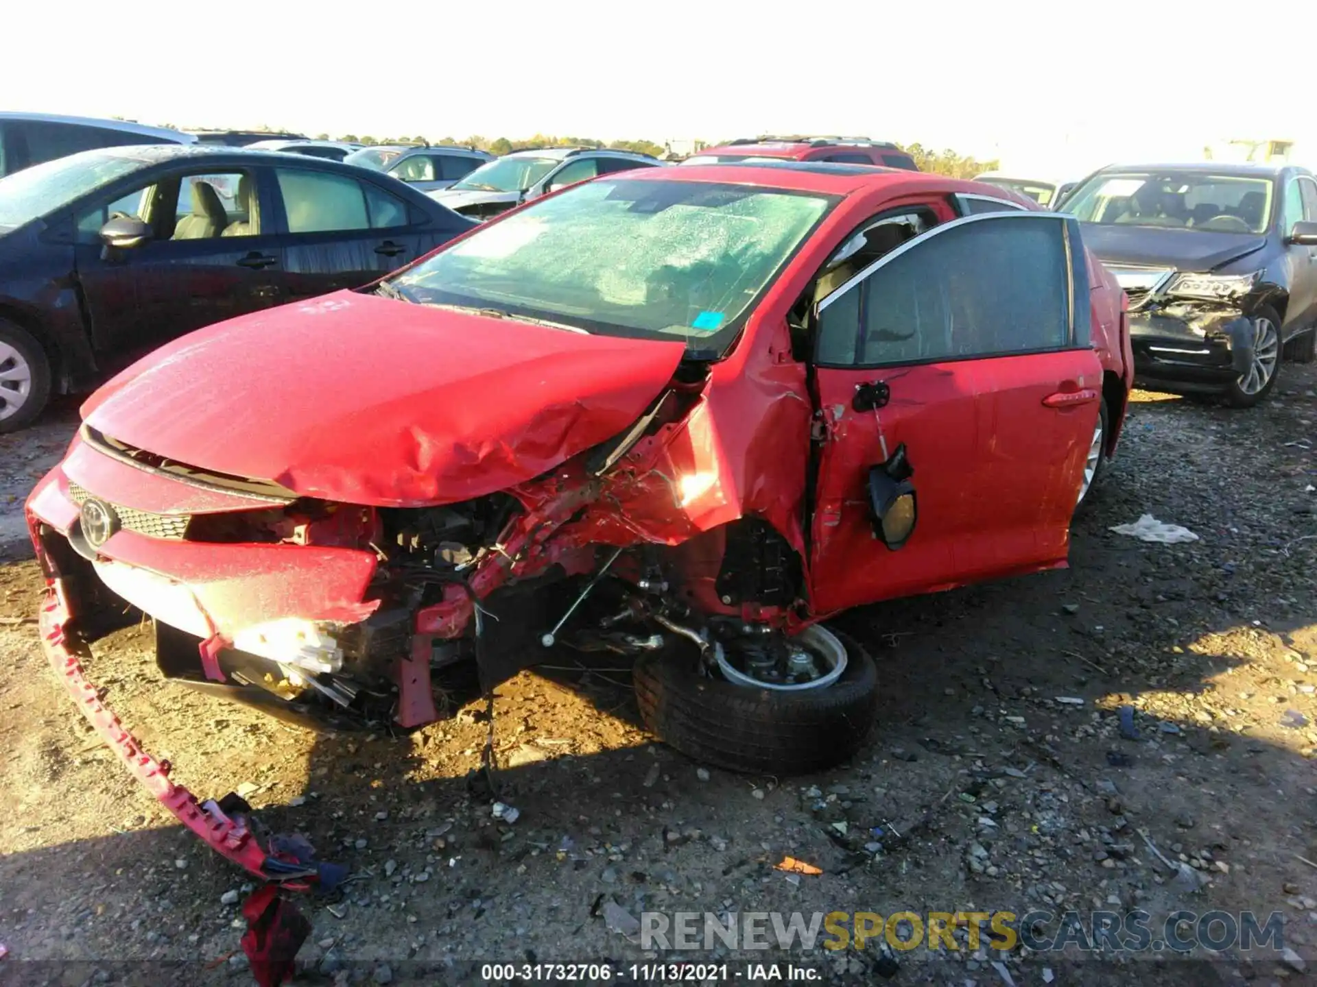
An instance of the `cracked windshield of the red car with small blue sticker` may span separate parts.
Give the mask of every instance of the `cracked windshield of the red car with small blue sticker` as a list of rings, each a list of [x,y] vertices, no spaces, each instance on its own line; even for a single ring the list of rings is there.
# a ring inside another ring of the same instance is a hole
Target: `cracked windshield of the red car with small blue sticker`
[[[719,355],[830,205],[744,186],[591,182],[491,224],[390,291]]]

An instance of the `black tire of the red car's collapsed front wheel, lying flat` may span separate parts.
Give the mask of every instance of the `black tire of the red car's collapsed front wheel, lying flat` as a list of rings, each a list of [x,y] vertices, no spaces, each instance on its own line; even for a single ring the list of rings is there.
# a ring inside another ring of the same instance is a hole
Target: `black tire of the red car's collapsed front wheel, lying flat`
[[[698,675],[689,651],[645,654],[632,672],[645,726],[697,761],[731,771],[793,775],[852,757],[873,728],[878,670],[855,638],[846,671],[820,690],[781,692]]]

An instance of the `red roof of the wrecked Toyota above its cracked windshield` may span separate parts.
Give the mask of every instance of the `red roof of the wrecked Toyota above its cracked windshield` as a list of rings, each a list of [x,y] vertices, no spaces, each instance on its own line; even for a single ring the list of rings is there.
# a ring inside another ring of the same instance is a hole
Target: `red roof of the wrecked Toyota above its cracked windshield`
[[[843,164],[828,161],[763,161],[732,162],[726,164],[684,164],[680,168],[647,168],[644,171],[623,171],[608,175],[608,179],[627,182],[719,182],[739,186],[761,186],[793,192],[815,192],[820,195],[855,195],[884,186],[902,186],[918,192],[927,186],[930,191],[947,193],[950,191],[975,192],[973,183],[964,179],[947,178],[927,171],[909,168],[880,168],[872,164]],[[977,190],[988,195],[989,190]],[[993,190],[993,193],[1001,195]]]

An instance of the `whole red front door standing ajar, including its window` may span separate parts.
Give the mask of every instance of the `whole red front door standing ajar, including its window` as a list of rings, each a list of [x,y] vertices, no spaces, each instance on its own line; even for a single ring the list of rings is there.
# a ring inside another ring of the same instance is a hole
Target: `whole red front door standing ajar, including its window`
[[[1064,563],[1101,400],[1089,317],[1076,224],[1043,212],[935,226],[819,304],[817,612]],[[889,547],[871,472],[902,457],[915,521]]]

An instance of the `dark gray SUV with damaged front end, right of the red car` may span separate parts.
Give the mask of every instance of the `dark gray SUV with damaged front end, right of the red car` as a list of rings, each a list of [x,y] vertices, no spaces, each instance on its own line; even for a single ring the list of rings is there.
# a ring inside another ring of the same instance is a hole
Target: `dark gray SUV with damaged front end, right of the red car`
[[[1106,167],[1065,200],[1130,299],[1135,383],[1249,408],[1317,355],[1317,180],[1279,164]]]

